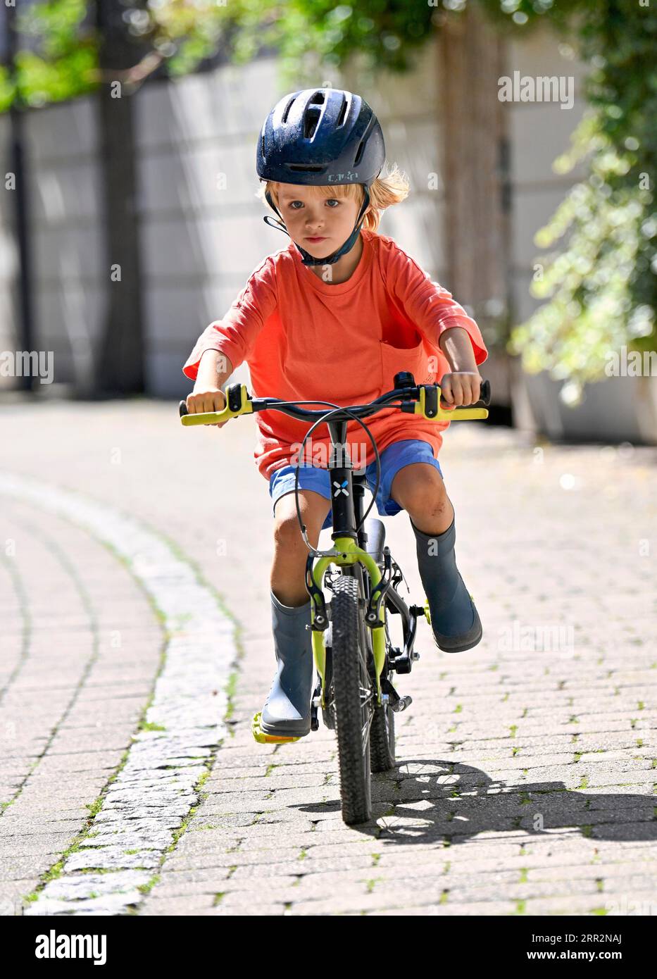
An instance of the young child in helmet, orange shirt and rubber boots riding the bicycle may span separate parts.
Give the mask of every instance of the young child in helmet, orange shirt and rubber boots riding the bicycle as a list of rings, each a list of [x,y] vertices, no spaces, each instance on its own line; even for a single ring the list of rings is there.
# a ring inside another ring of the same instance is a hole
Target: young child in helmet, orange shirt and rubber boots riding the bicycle
[[[407,370],[416,384],[440,383],[453,406],[478,400],[477,365],[488,351],[477,324],[392,238],[376,233],[381,211],[408,193],[397,167],[380,176],[384,162],[381,126],[351,92],[306,89],[272,109],[258,139],[258,176],[266,180],[267,203],[282,217],[276,224],[292,241],[258,265],[223,319],[199,337],[183,367],[196,382],[188,411],[221,410],[221,385],[245,360],[254,396],[357,404],[390,391],[394,375]],[[307,425],[276,411],[256,418],[255,458],[269,480],[274,515],[270,585],[278,665],[260,723],[265,733],[298,737],[310,729],[314,669],[295,469],[305,463],[300,507],[316,547],[331,524],[328,455],[321,465],[300,460]],[[470,649],[482,626],[456,568],[454,510],[436,458],[448,423],[390,409],[367,425],[381,453],[377,509],[409,515],[436,643],[446,652]],[[366,451],[360,465],[367,465],[373,489],[373,451],[364,442],[360,426],[350,422],[352,460]],[[320,427],[312,437],[313,460],[328,443]]]

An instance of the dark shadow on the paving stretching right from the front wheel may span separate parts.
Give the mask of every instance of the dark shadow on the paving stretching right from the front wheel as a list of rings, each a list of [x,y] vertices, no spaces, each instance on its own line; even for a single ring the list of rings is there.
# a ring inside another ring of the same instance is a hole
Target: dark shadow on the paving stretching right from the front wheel
[[[335,804],[301,807],[340,811]],[[390,842],[465,843],[483,832],[541,836],[579,830],[598,840],[655,840],[655,797],[569,789],[560,781],[504,782],[482,769],[436,759],[399,762],[372,775],[372,820],[352,826]]]

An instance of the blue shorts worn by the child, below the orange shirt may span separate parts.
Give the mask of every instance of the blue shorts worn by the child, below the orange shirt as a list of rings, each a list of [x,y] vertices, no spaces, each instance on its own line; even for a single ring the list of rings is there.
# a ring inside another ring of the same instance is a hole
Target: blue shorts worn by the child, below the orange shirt
[[[428,462],[430,466],[438,469],[441,476],[443,471],[438,459],[434,457],[434,450],[430,443],[422,439],[402,439],[394,442],[381,452],[381,483],[376,496],[376,508],[381,516],[393,517],[399,513],[401,507],[390,495],[390,488],[399,469],[410,465],[411,462]],[[272,512],[276,506],[276,501],[286,492],[294,492],[296,466],[281,466],[276,469],[269,478],[269,495],[272,499]],[[445,478],[445,477],[443,477]],[[370,492],[374,492],[376,482],[376,461],[370,462],[365,470],[365,479]],[[331,486],[328,469],[320,469],[317,466],[304,464],[299,467],[299,489],[313,489],[326,497],[329,504],[329,512],[326,520],[322,524],[322,531],[332,526],[331,519]]]

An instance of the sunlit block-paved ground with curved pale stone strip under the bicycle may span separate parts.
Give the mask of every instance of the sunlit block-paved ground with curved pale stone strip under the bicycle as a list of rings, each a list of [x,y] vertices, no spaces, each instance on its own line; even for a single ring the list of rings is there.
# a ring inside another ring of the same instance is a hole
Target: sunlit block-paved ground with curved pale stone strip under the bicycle
[[[274,671],[254,419],[18,399],[0,438],[0,913],[657,913],[655,449],[452,425],[484,640],[447,655],[419,624],[398,767],[349,828],[331,732],[250,731]],[[386,526],[421,603],[408,518]]]

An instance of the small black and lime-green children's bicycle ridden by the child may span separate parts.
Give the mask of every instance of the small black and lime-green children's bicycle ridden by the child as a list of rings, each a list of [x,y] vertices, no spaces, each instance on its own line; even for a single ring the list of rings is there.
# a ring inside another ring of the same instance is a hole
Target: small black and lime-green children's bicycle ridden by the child
[[[348,825],[371,819],[371,772],[395,767],[395,716],[406,710],[411,698],[399,696],[392,677],[409,674],[413,663],[420,658],[413,648],[418,618],[425,616],[431,623],[428,601],[423,606],[408,606],[399,594],[399,584],[404,578],[385,543],[384,524],[381,520],[367,519],[379,489],[381,461],[376,442],[361,419],[384,408],[399,407],[400,411],[434,421],[472,420],[487,418],[486,405],[491,402],[488,381],[482,382],[480,400],[475,405],[458,408],[446,407],[439,385],[416,385],[413,375],[407,371],[395,375],[394,385],[393,391],[367,404],[351,407],[329,401],[251,397],[244,384],[233,384],[226,389],[226,406],[222,411],[189,414],[185,402],[180,401],[183,425],[211,425],[238,415],[271,410],[312,422],[299,452],[302,459],[305,442],[317,426],[328,426],[333,547],[316,550],[307,538],[299,506],[299,466],[295,501],[308,548],[305,588],[310,596],[310,624],[306,628],[311,629],[317,672],[310,729],[318,729],[321,711],[324,724],[336,732],[342,815]],[[324,410],[309,411],[302,407],[305,404],[322,404]],[[347,444],[347,427],[352,420],[362,426],[376,460],[376,485],[364,514],[365,470],[353,470]],[[331,593],[328,601],[324,589]],[[399,646],[391,637],[395,616],[399,616],[401,624]],[[258,742],[299,740],[267,734],[259,720],[257,714],[253,733]]]

